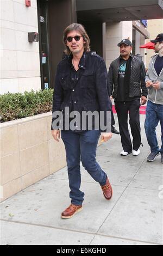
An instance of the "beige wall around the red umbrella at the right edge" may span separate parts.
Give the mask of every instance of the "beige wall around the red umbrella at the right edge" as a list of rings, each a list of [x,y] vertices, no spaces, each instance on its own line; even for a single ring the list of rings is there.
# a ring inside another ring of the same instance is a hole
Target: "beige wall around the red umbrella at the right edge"
[[[148,32],[150,34],[149,40],[153,40],[160,33],[163,33],[163,19],[148,20]],[[149,41],[147,40],[147,42]],[[149,65],[151,57],[155,54],[153,50],[147,49],[146,66]]]

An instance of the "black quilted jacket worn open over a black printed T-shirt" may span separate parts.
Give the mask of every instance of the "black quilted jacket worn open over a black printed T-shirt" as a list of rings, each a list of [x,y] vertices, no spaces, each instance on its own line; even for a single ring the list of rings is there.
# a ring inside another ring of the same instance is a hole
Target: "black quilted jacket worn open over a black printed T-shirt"
[[[117,99],[118,90],[118,69],[120,66],[120,58],[115,59],[109,68],[109,89],[112,97]],[[131,55],[131,76],[129,86],[129,97],[147,97],[147,88],[145,84],[146,68],[142,60]]]

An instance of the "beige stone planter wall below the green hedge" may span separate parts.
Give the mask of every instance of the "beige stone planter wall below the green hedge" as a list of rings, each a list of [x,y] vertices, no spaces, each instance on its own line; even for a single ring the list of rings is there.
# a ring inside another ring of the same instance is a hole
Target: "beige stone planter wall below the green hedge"
[[[51,135],[52,112],[0,124],[1,202],[66,166],[64,143]]]

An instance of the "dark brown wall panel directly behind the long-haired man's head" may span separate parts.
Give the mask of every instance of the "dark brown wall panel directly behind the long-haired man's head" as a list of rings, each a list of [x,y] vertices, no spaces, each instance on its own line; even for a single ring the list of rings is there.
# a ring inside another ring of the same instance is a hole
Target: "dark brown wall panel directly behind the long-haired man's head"
[[[51,66],[51,87],[54,87],[57,65],[62,59],[65,45],[62,36],[65,28],[73,22],[77,22],[76,2],[74,0],[50,0],[48,1],[48,34],[49,57]]]

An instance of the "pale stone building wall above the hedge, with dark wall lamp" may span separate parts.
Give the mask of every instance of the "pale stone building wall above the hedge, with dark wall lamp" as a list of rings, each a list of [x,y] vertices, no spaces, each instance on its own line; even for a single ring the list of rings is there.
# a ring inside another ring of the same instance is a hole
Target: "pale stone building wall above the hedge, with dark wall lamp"
[[[39,42],[28,42],[28,32],[38,32],[36,0],[1,0],[0,93],[41,88]]]

